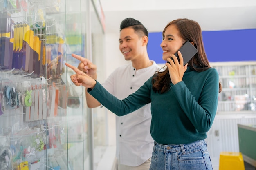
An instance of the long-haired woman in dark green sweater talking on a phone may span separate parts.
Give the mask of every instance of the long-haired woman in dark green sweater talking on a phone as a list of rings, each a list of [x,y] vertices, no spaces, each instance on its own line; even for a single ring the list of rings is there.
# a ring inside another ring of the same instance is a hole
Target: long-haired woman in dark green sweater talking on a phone
[[[189,41],[198,53],[183,64],[174,53]],[[204,139],[213,124],[221,85],[211,68],[202,42],[199,24],[189,19],[173,20],[163,31],[163,60],[166,69],[157,72],[126,99],[110,95],[99,82],[72,68],[71,79],[83,85],[103,106],[118,116],[126,115],[151,102],[151,136],[155,140],[150,170],[212,170]]]

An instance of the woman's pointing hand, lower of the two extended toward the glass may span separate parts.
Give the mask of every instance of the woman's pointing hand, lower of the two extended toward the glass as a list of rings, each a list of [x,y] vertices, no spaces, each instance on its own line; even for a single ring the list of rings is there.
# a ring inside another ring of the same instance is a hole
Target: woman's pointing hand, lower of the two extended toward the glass
[[[75,66],[72,66],[68,63],[65,63],[66,66],[74,70],[76,74],[71,75],[70,79],[76,86],[84,86],[86,88],[94,88],[96,81],[90,77],[89,75],[85,74],[83,71],[79,70]]]

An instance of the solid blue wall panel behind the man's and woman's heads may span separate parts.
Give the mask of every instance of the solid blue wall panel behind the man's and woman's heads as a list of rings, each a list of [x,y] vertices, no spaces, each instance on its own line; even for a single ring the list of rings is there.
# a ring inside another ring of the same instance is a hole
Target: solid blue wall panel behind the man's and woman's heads
[[[203,31],[203,42],[210,62],[256,61],[256,29]],[[149,33],[148,55],[156,63],[162,60],[162,32]]]

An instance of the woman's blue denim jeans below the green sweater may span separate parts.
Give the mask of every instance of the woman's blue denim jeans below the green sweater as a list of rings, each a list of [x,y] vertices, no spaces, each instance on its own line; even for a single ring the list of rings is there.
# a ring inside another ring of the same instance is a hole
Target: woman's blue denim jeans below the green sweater
[[[213,170],[204,140],[190,144],[162,145],[155,142],[149,170]]]

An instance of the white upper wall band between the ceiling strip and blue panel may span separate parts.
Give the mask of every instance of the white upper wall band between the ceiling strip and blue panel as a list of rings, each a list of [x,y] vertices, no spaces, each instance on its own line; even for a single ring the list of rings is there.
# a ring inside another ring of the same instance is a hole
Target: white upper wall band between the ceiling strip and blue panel
[[[119,32],[121,21],[127,17],[140,20],[149,32],[161,32],[168,22],[177,18],[189,18],[197,21],[202,31],[256,29],[256,6],[147,11],[104,11],[104,15],[106,33]]]

